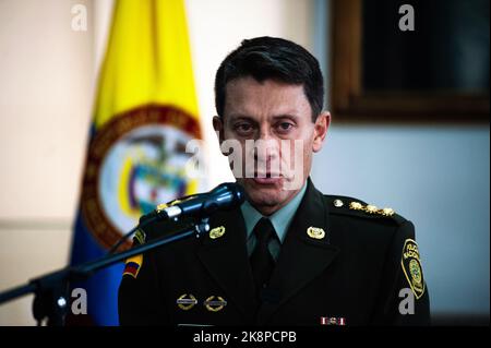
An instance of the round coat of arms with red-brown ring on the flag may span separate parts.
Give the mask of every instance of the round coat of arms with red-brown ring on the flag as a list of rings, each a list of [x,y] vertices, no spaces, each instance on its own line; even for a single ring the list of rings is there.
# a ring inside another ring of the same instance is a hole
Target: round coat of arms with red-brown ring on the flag
[[[185,173],[191,156],[185,147],[196,137],[200,128],[194,118],[157,105],[118,115],[97,132],[89,147],[81,208],[88,230],[104,248],[115,244],[159,203],[195,190]]]

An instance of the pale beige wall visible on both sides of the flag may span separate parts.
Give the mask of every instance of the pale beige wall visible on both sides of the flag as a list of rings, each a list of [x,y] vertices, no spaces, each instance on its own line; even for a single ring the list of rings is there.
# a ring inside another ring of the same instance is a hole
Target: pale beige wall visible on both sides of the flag
[[[71,29],[72,5],[88,12]],[[313,0],[188,0],[208,185],[231,180],[211,125],[213,77],[241,39],[311,48]],[[0,291],[67,263],[110,0],[0,1]],[[0,325],[32,325],[32,297],[0,305]]]

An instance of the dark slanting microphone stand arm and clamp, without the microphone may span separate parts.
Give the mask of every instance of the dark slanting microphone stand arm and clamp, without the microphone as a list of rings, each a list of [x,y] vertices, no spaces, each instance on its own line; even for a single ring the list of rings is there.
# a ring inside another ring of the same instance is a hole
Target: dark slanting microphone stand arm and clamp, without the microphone
[[[139,227],[144,227],[155,220],[156,218],[145,220]],[[69,305],[67,299],[69,298],[68,292],[71,281],[87,279],[96,271],[108,267],[131,256],[146,253],[158,247],[191,237],[193,235],[199,238],[201,235],[208,231],[208,217],[202,217],[197,223],[193,223],[192,227],[183,229],[172,236],[160,237],[117,254],[108,254],[81,265],[67,266],[44,276],[34,278],[26,285],[1,292],[0,304],[17,297],[34,292],[33,315],[37,321],[38,326],[40,326],[46,317],[48,319],[48,326],[63,326]]]

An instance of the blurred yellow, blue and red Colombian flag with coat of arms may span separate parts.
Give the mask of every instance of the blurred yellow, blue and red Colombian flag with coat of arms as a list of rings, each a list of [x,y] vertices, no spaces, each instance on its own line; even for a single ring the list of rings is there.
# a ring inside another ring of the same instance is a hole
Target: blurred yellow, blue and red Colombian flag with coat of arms
[[[71,264],[105,255],[139,217],[193,194],[187,143],[201,139],[183,0],[116,1],[99,72]],[[121,249],[130,247],[130,242]],[[137,272],[137,269],[133,269]],[[118,325],[118,264],[76,284],[87,315]],[[79,315],[80,316],[80,315]]]

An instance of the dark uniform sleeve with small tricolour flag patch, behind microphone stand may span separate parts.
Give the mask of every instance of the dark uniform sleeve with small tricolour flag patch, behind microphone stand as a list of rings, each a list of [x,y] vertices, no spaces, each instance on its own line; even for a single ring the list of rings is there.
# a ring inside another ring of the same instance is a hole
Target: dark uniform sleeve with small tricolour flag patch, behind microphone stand
[[[139,230],[133,238],[133,247],[144,243],[144,236],[145,233]],[[153,253],[128,259],[118,293],[119,324],[167,324],[167,312],[160,295]]]

